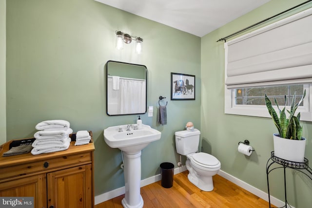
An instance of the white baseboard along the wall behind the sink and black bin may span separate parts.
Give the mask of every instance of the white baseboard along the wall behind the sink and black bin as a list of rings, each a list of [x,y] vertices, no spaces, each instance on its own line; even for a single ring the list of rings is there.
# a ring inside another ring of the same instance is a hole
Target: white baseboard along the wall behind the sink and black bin
[[[175,171],[174,171],[174,174],[183,172],[185,170],[187,170],[186,166],[182,166],[180,168],[176,168]],[[154,175],[152,177],[149,177],[149,178],[141,180],[140,187],[147,186],[149,184],[155,183],[155,182],[160,181],[160,180],[161,180],[161,175],[160,174]],[[100,194],[98,196],[95,196],[95,199],[94,199],[95,205],[100,204],[102,202],[105,202],[107,200],[113,199],[113,198],[115,198],[117,196],[120,196],[120,195],[124,194],[125,192],[126,192],[125,187],[120,187],[118,189],[114,189],[114,190],[108,191],[106,193],[102,193],[102,194]]]

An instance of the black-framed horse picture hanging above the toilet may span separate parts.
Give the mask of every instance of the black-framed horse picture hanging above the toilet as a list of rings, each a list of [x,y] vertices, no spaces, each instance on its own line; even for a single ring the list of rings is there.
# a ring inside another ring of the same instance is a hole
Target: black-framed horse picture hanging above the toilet
[[[195,100],[195,75],[171,73],[171,99]]]

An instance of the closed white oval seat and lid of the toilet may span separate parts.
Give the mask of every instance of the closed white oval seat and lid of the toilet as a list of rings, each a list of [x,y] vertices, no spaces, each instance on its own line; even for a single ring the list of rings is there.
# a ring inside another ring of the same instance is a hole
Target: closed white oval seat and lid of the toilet
[[[198,152],[193,154],[191,157],[191,163],[207,169],[215,169],[220,167],[220,161],[215,158],[215,156],[205,152]]]

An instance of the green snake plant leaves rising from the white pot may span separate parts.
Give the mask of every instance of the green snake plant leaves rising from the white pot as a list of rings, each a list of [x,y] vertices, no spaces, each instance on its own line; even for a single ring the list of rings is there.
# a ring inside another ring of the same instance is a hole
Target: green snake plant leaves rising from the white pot
[[[300,103],[303,101],[303,98],[306,96],[306,90],[304,90],[304,93],[299,100],[299,102],[295,103],[295,96],[296,93],[294,93],[292,97],[292,103],[291,103],[291,109],[290,111],[286,109],[286,101],[287,97],[285,95],[285,105],[282,110],[280,110],[276,98],[274,98],[274,103],[277,106],[277,109],[279,111],[280,117],[278,118],[277,113],[272,107],[272,102],[265,94],[265,103],[269,110],[270,115],[272,116],[273,122],[278,130],[279,137],[285,138],[285,139],[295,139],[295,140],[301,140],[302,137],[302,126],[300,126],[300,112],[295,115],[295,111],[297,110]],[[289,117],[287,118],[286,112],[289,113]]]

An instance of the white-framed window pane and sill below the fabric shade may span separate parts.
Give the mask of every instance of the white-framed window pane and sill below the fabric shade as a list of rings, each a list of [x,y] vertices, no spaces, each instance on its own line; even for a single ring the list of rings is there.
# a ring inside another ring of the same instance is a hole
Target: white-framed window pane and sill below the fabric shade
[[[280,108],[284,107],[284,96],[286,95],[287,108],[287,106],[290,106],[294,92],[298,100],[301,98],[304,90],[306,90],[306,96],[303,103],[298,107],[297,112],[301,114],[300,120],[312,121],[312,84],[225,89],[224,112],[227,114],[271,117],[265,105],[265,93],[267,93],[273,105],[275,105],[273,98],[276,97]],[[278,112],[277,108],[275,110]]]

